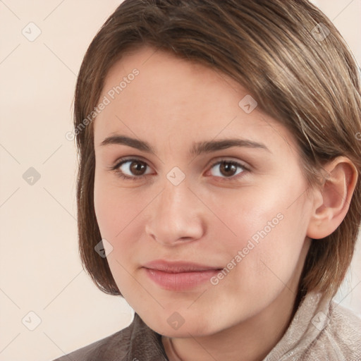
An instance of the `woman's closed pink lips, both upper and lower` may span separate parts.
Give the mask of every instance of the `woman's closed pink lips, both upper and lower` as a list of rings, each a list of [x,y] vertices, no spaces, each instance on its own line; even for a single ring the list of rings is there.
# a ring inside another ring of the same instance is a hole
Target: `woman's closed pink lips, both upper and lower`
[[[149,279],[164,290],[184,291],[202,285],[221,271],[212,267],[190,262],[167,262],[157,260],[143,266]]]

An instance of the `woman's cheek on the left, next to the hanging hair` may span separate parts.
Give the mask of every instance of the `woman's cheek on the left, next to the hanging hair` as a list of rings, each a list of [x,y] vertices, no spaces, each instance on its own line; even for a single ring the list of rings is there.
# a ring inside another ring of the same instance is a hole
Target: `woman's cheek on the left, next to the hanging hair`
[[[140,194],[139,188],[120,188],[112,181],[95,177],[97,224],[102,238],[111,244],[107,260],[118,287],[122,287],[122,293],[127,284],[132,286],[134,280],[129,274],[136,270],[142,256],[140,240],[144,238],[145,226],[140,222],[152,198],[154,195],[149,190]]]

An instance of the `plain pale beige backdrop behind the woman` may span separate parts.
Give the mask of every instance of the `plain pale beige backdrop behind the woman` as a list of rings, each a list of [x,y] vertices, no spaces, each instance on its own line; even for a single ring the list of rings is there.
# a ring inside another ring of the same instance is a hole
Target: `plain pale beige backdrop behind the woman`
[[[133,318],[125,300],[99,291],[82,270],[75,148],[65,137],[82,56],[119,3],[0,0],[0,361],[52,360]],[[317,3],[361,63],[361,0]],[[39,180],[25,173],[30,167]],[[338,295],[358,314],[360,255],[359,245]]]

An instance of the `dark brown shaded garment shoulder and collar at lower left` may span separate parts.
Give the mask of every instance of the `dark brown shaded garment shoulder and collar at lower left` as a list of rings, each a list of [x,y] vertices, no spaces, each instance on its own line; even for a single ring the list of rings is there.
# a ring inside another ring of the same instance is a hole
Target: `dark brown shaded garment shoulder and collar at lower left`
[[[133,322],[121,331],[54,361],[166,361],[161,335],[134,314]]]

